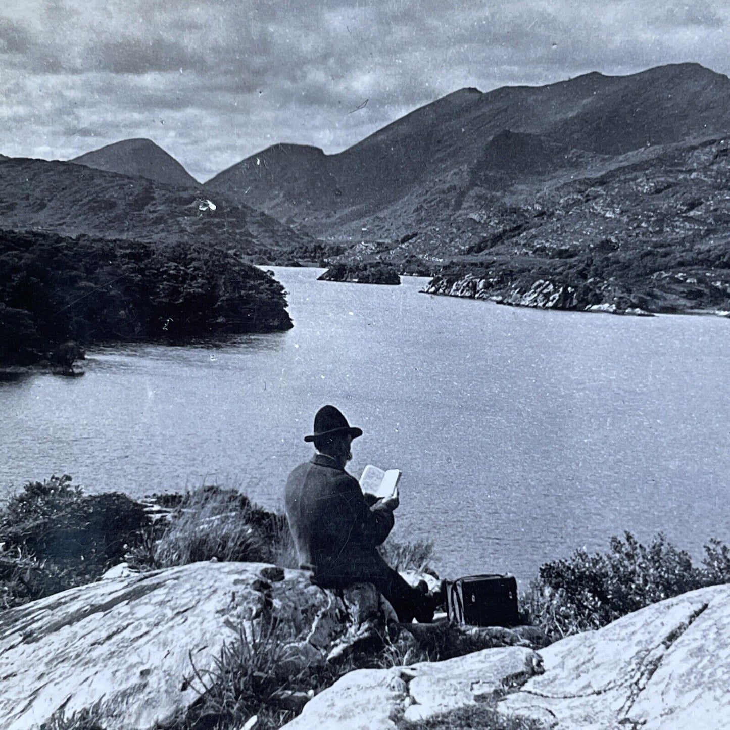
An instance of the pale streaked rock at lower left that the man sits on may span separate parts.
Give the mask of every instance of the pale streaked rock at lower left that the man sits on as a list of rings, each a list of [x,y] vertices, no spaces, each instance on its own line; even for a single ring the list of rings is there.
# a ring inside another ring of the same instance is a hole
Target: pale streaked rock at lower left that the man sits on
[[[309,574],[258,563],[196,563],[111,577],[0,613],[0,727],[39,727],[99,703],[107,730],[147,730],[197,699],[241,623],[286,627],[292,661],[340,656],[382,623],[369,585],[334,596]]]

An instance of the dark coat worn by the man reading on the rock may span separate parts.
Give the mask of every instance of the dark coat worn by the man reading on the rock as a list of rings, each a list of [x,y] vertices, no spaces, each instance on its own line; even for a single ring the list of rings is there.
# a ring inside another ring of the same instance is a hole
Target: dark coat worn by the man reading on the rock
[[[315,576],[347,582],[390,572],[375,547],[393,529],[393,512],[369,507],[358,481],[331,456],[317,454],[291,472],[285,504],[299,561]]]

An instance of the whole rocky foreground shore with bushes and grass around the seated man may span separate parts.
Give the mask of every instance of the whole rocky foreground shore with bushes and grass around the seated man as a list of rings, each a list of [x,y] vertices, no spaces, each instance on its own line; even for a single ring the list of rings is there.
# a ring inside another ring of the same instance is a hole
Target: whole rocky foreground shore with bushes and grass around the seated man
[[[684,730],[700,712],[720,730],[730,712],[717,540],[702,567],[629,534],[545,564],[522,626],[402,624],[372,585],[312,584],[285,518],[235,490],[137,501],[71,481],[0,507],[2,728]],[[430,548],[381,550],[434,584]]]

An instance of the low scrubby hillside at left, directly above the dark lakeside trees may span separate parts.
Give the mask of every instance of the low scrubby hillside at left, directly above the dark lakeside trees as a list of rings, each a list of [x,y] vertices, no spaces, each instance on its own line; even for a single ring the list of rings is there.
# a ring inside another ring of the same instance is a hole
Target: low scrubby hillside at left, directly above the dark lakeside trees
[[[200,195],[71,162],[0,160],[0,228],[159,245],[204,243],[264,261],[313,243],[246,205],[215,196],[214,210]]]

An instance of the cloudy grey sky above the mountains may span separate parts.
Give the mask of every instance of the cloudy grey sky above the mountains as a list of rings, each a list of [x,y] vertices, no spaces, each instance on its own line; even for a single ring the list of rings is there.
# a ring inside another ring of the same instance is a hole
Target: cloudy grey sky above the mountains
[[[465,86],[679,61],[730,72],[730,0],[4,0],[0,152],[149,137],[206,180]]]

